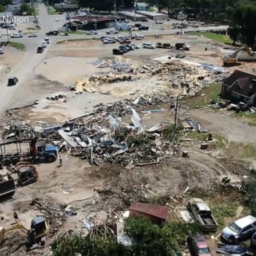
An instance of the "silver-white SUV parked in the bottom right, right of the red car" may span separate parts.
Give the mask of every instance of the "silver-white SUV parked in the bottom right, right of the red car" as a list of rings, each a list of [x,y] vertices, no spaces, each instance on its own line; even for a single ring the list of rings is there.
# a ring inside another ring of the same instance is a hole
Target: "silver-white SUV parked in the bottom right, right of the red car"
[[[248,215],[237,221],[232,222],[221,232],[221,239],[228,243],[237,243],[238,241],[251,237],[256,231],[256,217]]]

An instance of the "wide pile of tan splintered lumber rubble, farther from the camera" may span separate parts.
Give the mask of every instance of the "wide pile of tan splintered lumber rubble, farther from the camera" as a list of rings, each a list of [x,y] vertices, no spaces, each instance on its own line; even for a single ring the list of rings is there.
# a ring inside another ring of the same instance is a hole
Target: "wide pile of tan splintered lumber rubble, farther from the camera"
[[[71,88],[77,93],[87,91],[89,93],[101,92],[101,85],[118,83],[121,81],[136,81],[137,79],[149,80],[156,77],[161,81],[161,89],[158,93],[164,95],[169,93],[174,95],[179,92],[181,95],[195,95],[203,87],[213,82],[221,81],[225,72],[217,67],[209,65],[189,65],[181,61],[170,61],[169,63],[159,63],[151,61],[148,65],[130,65],[114,61],[113,72],[105,74],[91,75],[85,77],[83,81],[78,81],[75,87]],[[104,90],[103,90],[104,92]],[[153,95],[153,91],[147,91],[148,95]]]

